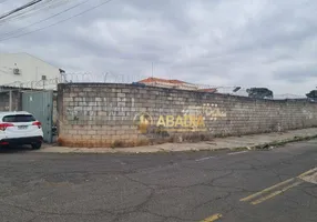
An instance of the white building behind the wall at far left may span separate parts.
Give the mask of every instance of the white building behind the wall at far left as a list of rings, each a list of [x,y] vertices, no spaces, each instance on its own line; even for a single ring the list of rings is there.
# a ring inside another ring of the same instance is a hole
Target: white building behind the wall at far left
[[[55,89],[63,70],[28,53],[0,53],[0,85]]]

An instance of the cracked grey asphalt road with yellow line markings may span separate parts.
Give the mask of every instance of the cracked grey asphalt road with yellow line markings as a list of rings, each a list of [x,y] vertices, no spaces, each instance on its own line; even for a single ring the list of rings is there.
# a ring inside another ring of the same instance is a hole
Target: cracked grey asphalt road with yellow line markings
[[[316,222],[316,167],[317,140],[234,154],[4,150],[0,221]]]

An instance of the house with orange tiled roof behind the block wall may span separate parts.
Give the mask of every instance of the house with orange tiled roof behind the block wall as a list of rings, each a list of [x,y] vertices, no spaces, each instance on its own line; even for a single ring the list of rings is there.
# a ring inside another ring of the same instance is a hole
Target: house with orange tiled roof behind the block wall
[[[166,80],[160,78],[147,78],[139,81],[139,83],[143,83],[152,87],[162,87],[162,88],[171,88],[171,89],[181,89],[181,90],[195,90],[201,92],[216,92],[217,89],[202,89],[198,84],[193,84],[188,82],[184,82],[181,80]]]

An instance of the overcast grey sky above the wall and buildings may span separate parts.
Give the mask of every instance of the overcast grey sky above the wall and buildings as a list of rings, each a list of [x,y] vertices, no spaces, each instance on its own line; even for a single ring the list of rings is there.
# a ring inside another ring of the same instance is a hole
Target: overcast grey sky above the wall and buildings
[[[0,0],[0,2],[3,0]],[[0,3],[1,14],[30,0]],[[28,52],[68,72],[154,75],[304,94],[317,85],[316,0],[55,0],[0,23],[0,52]],[[16,31],[65,10],[74,10]],[[13,34],[8,36],[8,32]]]

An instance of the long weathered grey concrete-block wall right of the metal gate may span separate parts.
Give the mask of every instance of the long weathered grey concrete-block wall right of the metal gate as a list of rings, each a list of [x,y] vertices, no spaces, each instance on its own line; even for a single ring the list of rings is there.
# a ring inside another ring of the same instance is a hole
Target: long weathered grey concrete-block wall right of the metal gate
[[[60,84],[59,141],[70,147],[198,141],[317,127],[317,104],[127,84]]]

